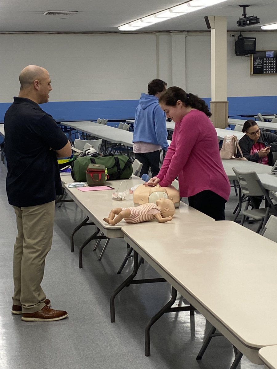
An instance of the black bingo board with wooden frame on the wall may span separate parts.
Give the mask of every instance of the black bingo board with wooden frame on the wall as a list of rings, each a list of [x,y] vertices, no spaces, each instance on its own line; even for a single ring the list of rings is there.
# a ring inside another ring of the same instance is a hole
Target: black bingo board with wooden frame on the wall
[[[276,74],[277,50],[256,51],[256,54],[251,55],[250,63],[251,74]]]

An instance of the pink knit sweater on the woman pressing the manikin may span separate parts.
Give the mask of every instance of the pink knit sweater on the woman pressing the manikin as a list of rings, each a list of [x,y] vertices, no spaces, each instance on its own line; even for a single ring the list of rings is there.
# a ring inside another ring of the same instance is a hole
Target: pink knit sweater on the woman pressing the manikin
[[[228,201],[230,182],[219,155],[215,127],[205,113],[191,110],[175,123],[172,142],[157,177],[166,187],[178,176],[181,197],[211,190]]]

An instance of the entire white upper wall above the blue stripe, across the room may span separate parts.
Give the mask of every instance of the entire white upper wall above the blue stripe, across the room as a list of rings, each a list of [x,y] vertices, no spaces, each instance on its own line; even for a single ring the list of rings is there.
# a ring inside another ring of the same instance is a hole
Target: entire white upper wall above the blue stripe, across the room
[[[239,34],[237,32],[236,36]],[[277,32],[247,34],[257,50],[277,49]],[[235,56],[227,35],[228,96],[276,95],[277,76],[250,76],[250,61]],[[210,34],[61,35],[0,34],[0,102],[18,94],[20,71],[47,68],[50,101],[132,100],[161,78],[200,97],[211,97]]]

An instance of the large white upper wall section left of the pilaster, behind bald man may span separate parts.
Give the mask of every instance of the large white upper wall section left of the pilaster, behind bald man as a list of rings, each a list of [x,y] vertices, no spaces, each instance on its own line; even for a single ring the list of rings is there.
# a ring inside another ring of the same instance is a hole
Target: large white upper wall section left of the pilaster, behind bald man
[[[50,101],[138,99],[156,78],[155,35],[0,35],[0,102],[28,64],[48,69]]]

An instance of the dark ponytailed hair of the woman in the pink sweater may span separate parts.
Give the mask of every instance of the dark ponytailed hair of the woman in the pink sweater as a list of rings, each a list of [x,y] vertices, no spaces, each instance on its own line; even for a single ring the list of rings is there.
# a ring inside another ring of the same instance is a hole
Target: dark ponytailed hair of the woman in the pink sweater
[[[169,106],[175,106],[177,101],[180,100],[185,105],[191,106],[192,108],[203,111],[207,117],[211,117],[212,113],[209,111],[208,105],[204,100],[192,93],[186,93],[180,87],[169,87],[161,94],[159,103],[164,103]]]

